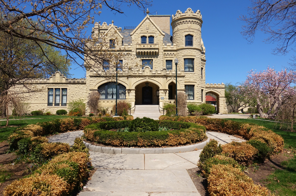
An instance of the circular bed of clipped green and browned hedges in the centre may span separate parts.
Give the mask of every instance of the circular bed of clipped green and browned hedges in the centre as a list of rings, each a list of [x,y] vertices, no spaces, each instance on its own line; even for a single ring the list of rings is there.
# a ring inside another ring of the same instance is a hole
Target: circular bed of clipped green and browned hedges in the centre
[[[192,122],[136,118],[106,121],[84,127],[89,141],[106,146],[162,147],[205,141],[205,127]]]

